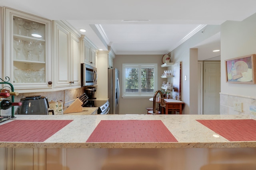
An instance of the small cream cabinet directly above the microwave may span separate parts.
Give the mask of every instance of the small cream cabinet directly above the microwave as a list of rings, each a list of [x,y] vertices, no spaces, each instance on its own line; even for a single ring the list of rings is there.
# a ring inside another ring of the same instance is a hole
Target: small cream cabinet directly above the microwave
[[[82,61],[90,66],[96,67],[96,48],[94,48],[84,35],[82,36]]]

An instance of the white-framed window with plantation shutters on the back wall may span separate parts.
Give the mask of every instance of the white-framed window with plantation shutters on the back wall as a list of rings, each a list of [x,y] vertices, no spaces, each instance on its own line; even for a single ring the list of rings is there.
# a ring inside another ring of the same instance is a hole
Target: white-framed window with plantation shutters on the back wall
[[[123,97],[152,97],[157,89],[157,64],[123,64]]]

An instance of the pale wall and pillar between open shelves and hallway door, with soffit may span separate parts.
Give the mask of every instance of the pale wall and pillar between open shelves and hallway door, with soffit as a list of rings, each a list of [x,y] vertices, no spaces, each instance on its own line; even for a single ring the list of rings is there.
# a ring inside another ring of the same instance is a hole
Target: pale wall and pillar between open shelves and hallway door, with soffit
[[[203,28],[204,33],[198,31],[190,39],[182,43],[179,47],[174,49],[171,52],[172,62],[182,62],[182,80],[181,80],[181,99],[185,102],[185,107],[182,111],[182,114],[197,114],[198,112],[198,78],[197,78],[197,69],[198,69],[198,59],[195,57],[194,50],[190,54],[190,49],[198,45],[198,43],[204,41],[205,39],[215,35],[220,32],[220,25],[207,25]],[[187,81],[184,81],[184,76],[187,76]]]

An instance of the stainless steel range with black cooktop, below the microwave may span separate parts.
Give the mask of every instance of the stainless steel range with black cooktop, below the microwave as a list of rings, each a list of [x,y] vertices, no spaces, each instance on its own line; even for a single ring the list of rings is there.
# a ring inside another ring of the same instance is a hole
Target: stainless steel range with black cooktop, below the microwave
[[[109,111],[108,100],[87,100],[83,107],[98,107],[98,114],[106,115]]]

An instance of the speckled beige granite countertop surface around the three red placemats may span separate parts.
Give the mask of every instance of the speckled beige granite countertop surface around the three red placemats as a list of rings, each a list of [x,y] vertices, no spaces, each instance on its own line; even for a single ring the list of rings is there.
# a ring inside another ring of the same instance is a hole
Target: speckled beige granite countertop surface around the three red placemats
[[[13,148],[240,148],[256,141],[230,142],[196,120],[250,119],[249,115],[15,115],[14,120],[73,120],[44,142],[0,142]],[[12,121],[14,121],[12,120]],[[161,120],[178,142],[86,143],[101,120]],[[1,123],[4,125],[6,121]],[[1,128],[0,128],[1,129]],[[10,130],[10,135],[12,132]]]

